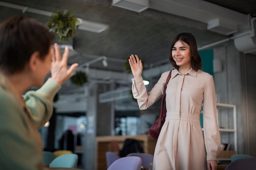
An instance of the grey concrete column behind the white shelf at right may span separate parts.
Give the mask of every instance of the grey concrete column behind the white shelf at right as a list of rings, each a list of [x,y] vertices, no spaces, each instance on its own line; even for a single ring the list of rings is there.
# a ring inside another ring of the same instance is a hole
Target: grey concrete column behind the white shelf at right
[[[240,54],[234,44],[220,46],[213,50],[214,59],[220,59],[222,63],[222,71],[214,73],[216,94],[220,99],[218,103],[236,105],[238,153],[243,152]],[[229,124],[230,127],[234,126],[230,113],[225,114],[227,116],[222,117],[221,124]],[[231,150],[234,149],[234,144],[232,146],[234,142],[232,134],[221,133],[221,138],[225,141],[229,140],[231,142]]]

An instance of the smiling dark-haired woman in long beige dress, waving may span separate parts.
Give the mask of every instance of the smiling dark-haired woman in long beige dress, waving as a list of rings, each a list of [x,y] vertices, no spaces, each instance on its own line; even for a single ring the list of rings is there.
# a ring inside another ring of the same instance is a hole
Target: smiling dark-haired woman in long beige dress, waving
[[[166,120],[157,139],[153,170],[216,170],[220,151],[215,86],[212,75],[201,70],[202,61],[195,37],[178,34],[171,44],[169,56],[174,69],[166,88]],[[129,64],[132,94],[144,110],[162,97],[170,71],[147,93],[141,77],[142,62],[131,55]],[[203,107],[204,131],[200,126]]]

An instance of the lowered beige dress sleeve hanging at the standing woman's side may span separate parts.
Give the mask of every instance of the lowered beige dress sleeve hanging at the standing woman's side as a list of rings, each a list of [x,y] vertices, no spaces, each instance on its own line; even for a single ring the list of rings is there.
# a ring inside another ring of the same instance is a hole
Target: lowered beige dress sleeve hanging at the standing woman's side
[[[217,160],[220,152],[220,132],[217,124],[217,107],[213,77],[208,79],[203,100],[204,144],[208,160]]]

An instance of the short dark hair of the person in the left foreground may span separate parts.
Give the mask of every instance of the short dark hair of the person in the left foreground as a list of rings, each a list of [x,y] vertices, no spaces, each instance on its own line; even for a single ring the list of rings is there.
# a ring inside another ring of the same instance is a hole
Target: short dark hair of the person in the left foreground
[[[18,15],[0,23],[0,70],[7,74],[24,69],[31,55],[38,51],[44,60],[54,35],[33,18]]]

